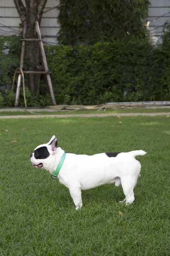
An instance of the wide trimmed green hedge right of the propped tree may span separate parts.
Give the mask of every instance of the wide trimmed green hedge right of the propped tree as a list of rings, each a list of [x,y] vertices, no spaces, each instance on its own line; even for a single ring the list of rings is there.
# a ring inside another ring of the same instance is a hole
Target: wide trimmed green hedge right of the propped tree
[[[169,49],[135,38],[48,47],[57,104],[170,100]]]

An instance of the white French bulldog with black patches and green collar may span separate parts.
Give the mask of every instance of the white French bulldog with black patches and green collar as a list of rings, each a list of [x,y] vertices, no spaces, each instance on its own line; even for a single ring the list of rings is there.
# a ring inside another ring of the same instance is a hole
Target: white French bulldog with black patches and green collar
[[[135,200],[133,189],[141,170],[135,157],[145,154],[143,150],[94,155],[65,153],[57,147],[57,139],[53,136],[47,144],[37,146],[30,159],[34,167],[49,171],[69,189],[78,210],[82,207],[81,190],[111,183],[122,185],[125,203],[132,204]]]

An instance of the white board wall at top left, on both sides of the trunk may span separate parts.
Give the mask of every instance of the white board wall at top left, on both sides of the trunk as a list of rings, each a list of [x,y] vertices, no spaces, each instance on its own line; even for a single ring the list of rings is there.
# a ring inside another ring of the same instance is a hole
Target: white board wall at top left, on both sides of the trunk
[[[23,4],[25,1],[23,0]],[[59,5],[59,0],[47,0],[44,11]],[[57,44],[57,33],[59,32],[59,23],[57,21],[57,8],[42,15],[41,34],[44,43]],[[13,0],[0,0],[0,35],[18,35],[21,23],[17,9]]]

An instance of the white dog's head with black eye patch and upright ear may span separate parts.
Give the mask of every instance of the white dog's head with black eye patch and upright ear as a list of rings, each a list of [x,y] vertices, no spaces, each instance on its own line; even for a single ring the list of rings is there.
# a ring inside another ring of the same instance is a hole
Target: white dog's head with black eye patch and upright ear
[[[32,165],[45,170],[51,169],[51,166],[55,164],[56,149],[57,139],[53,135],[47,144],[41,144],[34,149],[34,153],[30,156]]]

